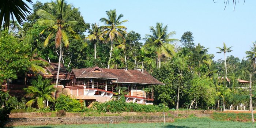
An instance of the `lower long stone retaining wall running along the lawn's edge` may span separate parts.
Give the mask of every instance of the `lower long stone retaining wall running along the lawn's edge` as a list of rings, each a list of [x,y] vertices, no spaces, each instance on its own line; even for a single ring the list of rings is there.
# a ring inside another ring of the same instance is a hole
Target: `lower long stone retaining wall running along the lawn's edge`
[[[173,121],[172,117],[166,117],[166,122]],[[100,117],[34,117],[34,118],[10,118],[7,127],[18,125],[50,125],[50,124],[105,124],[105,123],[146,123],[163,122],[163,116],[100,116]]]

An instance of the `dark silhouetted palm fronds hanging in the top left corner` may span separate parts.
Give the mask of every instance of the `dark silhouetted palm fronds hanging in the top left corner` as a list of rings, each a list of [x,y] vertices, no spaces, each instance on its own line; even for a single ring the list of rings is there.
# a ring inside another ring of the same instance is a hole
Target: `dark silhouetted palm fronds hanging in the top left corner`
[[[25,0],[32,3],[32,0]],[[31,14],[31,9],[23,0],[0,0],[0,29],[2,23],[4,29],[8,29],[10,25],[10,17],[14,23],[14,17],[19,24],[26,20],[26,17]]]

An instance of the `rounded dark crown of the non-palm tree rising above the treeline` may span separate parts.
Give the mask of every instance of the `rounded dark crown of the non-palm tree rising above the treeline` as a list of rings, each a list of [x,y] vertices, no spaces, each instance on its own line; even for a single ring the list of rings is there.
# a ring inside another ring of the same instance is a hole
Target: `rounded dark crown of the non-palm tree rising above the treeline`
[[[181,44],[184,47],[189,48],[189,49],[193,48],[193,46],[195,45],[195,43],[193,43],[193,41],[194,41],[194,37],[192,36],[191,31],[185,32],[180,38]]]

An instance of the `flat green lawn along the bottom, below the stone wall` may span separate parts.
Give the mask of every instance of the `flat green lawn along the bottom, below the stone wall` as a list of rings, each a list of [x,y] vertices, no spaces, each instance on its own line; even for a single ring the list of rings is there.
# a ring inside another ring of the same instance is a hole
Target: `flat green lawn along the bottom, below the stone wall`
[[[71,125],[43,125],[22,126],[14,128],[256,128],[251,123],[231,121],[188,121],[174,123],[120,123],[120,124],[71,124]]]

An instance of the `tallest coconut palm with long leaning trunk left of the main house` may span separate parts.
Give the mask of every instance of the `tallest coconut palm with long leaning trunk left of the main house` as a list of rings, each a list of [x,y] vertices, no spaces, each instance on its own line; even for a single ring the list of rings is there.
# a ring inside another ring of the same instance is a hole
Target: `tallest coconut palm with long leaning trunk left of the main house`
[[[50,31],[49,35],[45,39],[45,46],[48,45],[50,39],[56,33],[55,46],[56,48],[60,48],[59,65],[56,80],[57,87],[60,72],[60,60],[62,54],[61,40],[63,41],[64,46],[67,47],[69,45],[69,37],[67,34],[78,38],[78,34],[72,30],[72,26],[79,24],[78,21],[75,21],[75,19],[72,18],[72,15],[74,14],[74,12],[78,11],[78,8],[72,8],[72,6],[70,4],[67,4],[64,0],[56,0],[55,2],[52,1],[52,3],[50,3],[50,8],[52,8],[51,13],[39,9],[37,11],[37,15],[43,18],[39,20],[38,23],[47,26],[40,34],[43,34],[45,31]]]

